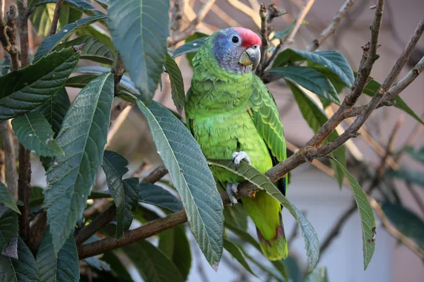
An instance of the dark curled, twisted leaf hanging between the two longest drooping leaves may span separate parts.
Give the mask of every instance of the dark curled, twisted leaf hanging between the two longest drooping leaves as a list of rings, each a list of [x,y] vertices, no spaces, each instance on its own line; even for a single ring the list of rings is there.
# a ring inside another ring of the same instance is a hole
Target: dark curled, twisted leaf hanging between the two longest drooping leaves
[[[131,226],[133,215],[131,209],[137,206],[139,200],[139,180],[129,178],[122,180],[122,176],[128,171],[129,162],[120,154],[105,150],[103,154],[102,168],[105,171],[107,187],[117,207],[117,228],[115,238],[122,237]],[[135,181],[135,183],[134,183]]]

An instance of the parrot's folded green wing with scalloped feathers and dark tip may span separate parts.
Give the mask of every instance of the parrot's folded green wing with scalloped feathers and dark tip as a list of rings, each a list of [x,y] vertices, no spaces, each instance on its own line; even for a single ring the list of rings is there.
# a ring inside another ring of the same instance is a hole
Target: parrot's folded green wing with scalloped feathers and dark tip
[[[252,97],[249,101],[249,114],[252,116],[254,124],[259,135],[269,147],[271,157],[273,157],[274,165],[276,162],[283,161],[287,158],[285,149],[285,137],[283,125],[281,124],[280,114],[276,102],[268,87],[257,76],[253,75]],[[288,178],[283,178],[278,183],[279,188],[285,195],[285,190],[288,184]]]

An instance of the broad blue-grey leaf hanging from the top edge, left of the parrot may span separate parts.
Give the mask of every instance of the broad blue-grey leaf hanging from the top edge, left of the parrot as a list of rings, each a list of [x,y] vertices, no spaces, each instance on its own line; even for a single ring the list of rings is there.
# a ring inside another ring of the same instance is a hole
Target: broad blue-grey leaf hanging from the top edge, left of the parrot
[[[170,33],[170,1],[110,0],[107,7],[112,42],[121,54],[126,71],[150,102],[158,87]]]

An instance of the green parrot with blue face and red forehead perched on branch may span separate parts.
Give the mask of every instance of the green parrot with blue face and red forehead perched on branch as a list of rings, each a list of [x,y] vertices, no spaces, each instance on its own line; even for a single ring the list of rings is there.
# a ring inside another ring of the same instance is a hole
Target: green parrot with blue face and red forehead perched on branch
[[[261,173],[286,158],[285,137],[278,109],[261,79],[252,73],[260,61],[261,39],[246,28],[219,30],[209,37],[192,61],[194,75],[187,92],[187,126],[207,159],[245,160]],[[252,65],[252,69],[249,67]],[[237,203],[240,176],[212,167],[216,178]],[[287,179],[278,181],[285,195]],[[287,241],[281,204],[265,191],[242,198],[257,227],[264,255],[286,258]]]

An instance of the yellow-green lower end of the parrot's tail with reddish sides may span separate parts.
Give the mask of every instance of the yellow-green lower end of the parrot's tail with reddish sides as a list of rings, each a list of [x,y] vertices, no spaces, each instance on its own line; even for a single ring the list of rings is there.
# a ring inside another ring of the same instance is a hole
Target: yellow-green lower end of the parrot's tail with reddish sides
[[[271,240],[266,240],[257,228],[261,250],[270,260],[286,259],[288,256],[287,240],[285,240],[283,220],[280,216],[280,226],[276,228],[276,235]]]

